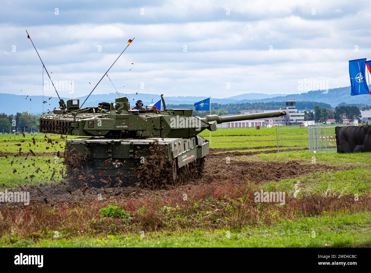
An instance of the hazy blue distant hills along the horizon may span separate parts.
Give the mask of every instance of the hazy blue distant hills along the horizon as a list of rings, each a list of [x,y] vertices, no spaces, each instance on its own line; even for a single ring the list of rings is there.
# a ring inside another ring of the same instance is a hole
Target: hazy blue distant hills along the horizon
[[[283,102],[285,100],[294,100],[302,101],[302,102],[313,102],[316,101],[318,103],[330,104],[332,108],[335,108],[340,103],[347,103],[347,104],[354,104],[354,105],[362,105],[362,104],[370,104],[370,96],[369,95],[358,95],[358,96],[351,96],[350,94],[350,87],[341,87],[341,88],[334,88],[329,89],[328,93],[324,91],[309,91],[306,93],[301,94],[260,94],[260,93],[245,93],[233,97],[228,98],[213,98],[211,97],[211,103],[216,103],[220,105],[224,104],[246,104],[246,103],[271,103],[271,102]],[[153,95],[153,94],[124,94],[120,93],[122,96],[127,96],[131,105],[134,105],[135,101],[142,100],[145,105],[153,103],[160,99],[160,95]],[[84,104],[84,106],[93,106],[98,105],[98,103],[102,101],[112,102],[115,100],[116,97],[119,97],[116,93],[109,93],[109,94],[92,94],[88,101]],[[85,100],[86,96],[78,97],[77,99],[80,100],[82,103]],[[173,105],[180,105],[180,104],[191,104],[193,105],[195,102],[203,100],[207,97],[199,97],[199,96],[177,96],[177,97],[164,97],[166,104],[173,104]],[[31,99],[31,100],[30,100]],[[63,100],[67,101],[69,98],[62,98]],[[28,111],[32,114],[39,114],[42,113],[42,107],[44,105],[44,111],[47,112],[48,110],[53,110],[55,107],[58,107],[58,97],[44,97],[44,101],[46,103],[43,104],[43,97],[39,96],[27,96],[27,95],[14,95],[14,94],[5,94],[0,93],[0,101],[1,108],[0,113],[6,114],[16,114],[17,112]],[[271,103],[272,104],[272,103]],[[282,104],[283,105],[283,104]],[[298,105],[299,106],[299,105]],[[299,107],[298,107],[299,108]],[[309,108],[303,108],[309,109]]]

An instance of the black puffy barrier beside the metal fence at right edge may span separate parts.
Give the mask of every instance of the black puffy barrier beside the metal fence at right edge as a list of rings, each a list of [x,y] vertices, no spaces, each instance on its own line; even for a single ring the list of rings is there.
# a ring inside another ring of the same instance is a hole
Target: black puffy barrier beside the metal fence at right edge
[[[338,153],[371,152],[371,126],[335,127]]]

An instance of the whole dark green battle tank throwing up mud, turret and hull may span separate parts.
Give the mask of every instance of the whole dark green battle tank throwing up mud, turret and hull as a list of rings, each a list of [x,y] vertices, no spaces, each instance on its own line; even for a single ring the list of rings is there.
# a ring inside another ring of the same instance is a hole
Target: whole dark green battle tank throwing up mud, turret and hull
[[[191,109],[130,110],[126,97],[79,110],[79,100],[40,118],[40,131],[66,139],[63,163],[71,181],[102,187],[131,183],[164,185],[199,178],[209,141],[197,136],[223,122],[285,116],[285,111],[197,118]],[[63,110],[62,110],[63,109]]]

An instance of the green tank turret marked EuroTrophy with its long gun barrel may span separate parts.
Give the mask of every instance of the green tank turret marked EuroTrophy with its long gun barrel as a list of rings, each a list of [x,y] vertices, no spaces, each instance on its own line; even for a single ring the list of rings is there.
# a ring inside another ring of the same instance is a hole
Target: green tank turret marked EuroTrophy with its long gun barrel
[[[286,111],[273,111],[220,117],[209,115],[197,118],[191,109],[130,110],[126,97],[116,98],[114,103],[99,103],[95,107],[80,110],[78,100],[67,101],[66,113],[55,110],[48,117],[40,118],[40,130],[44,133],[72,136],[121,137],[193,137],[206,129],[217,130],[217,124],[230,121],[252,120],[285,116]]]

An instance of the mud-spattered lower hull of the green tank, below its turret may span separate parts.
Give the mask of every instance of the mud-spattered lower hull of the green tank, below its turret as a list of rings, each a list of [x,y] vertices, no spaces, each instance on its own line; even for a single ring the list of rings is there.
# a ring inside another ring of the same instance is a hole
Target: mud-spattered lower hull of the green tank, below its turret
[[[72,176],[70,179],[78,178],[80,181],[148,178],[158,171],[164,172],[163,177],[167,180],[171,180],[169,173],[173,173],[173,180],[179,180],[174,173],[183,169],[192,173],[196,168],[195,175],[200,175],[200,166],[203,168],[203,158],[208,153],[209,142],[197,136],[147,139],[78,137],[66,140],[64,163],[67,173]]]

